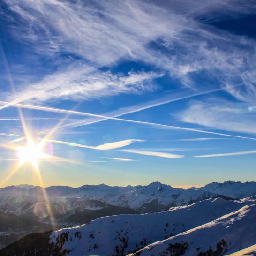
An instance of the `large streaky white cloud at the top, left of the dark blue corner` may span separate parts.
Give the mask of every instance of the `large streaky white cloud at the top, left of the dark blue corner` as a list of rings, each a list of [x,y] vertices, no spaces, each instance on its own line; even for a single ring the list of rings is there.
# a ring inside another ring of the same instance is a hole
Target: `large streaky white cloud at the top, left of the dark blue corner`
[[[39,53],[76,53],[102,66],[121,57],[149,55],[147,43],[166,33],[175,34],[183,20],[164,8],[139,1],[6,2],[20,18],[22,26],[15,33],[32,41]]]

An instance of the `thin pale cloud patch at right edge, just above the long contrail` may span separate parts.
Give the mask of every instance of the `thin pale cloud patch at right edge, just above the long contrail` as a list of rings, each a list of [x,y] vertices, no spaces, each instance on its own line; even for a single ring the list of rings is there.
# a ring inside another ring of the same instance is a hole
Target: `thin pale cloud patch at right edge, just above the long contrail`
[[[175,114],[179,120],[227,131],[256,134],[256,116],[250,105],[225,98],[191,101],[188,108]]]

